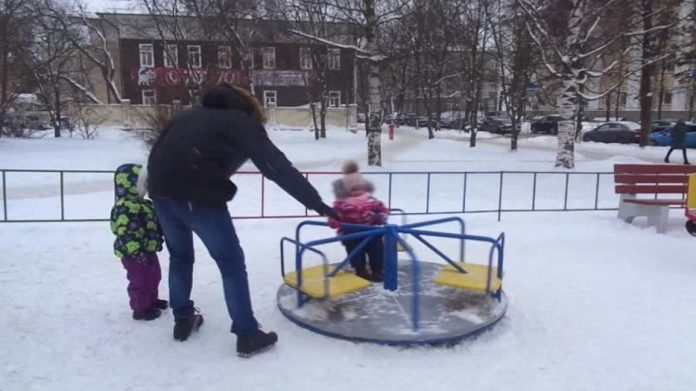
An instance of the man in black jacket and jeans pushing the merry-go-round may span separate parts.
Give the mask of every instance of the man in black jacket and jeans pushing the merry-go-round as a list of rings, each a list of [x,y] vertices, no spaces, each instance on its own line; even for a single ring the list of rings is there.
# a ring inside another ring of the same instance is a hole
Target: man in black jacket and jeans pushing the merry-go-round
[[[227,202],[237,190],[230,181],[251,159],[261,173],[309,209],[335,216],[317,191],[273,145],[258,101],[241,89],[214,87],[202,107],[178,114],[150,152],[148,190],[170,254],[169,294],[174,338],[186,340],[203,323],[191,301],[193,233],[205,244],[222,275],[237,353],[248,356],[277,341],[259,329],[249,295],[244,252]]]

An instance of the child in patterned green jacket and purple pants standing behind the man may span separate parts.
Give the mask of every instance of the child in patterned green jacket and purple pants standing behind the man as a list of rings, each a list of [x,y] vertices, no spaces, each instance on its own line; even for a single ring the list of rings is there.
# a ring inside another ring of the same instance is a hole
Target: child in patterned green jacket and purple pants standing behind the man
[[[157,298],[162,278],[157,251],[162,250],[163,239],[152,202],[143,198],[144,189],[138,189],[141,170],[138,164],[116,169],[111,231],[116,235],[114,252],[127,270],[133,319],[153,320],[168,306],[166,300]]]

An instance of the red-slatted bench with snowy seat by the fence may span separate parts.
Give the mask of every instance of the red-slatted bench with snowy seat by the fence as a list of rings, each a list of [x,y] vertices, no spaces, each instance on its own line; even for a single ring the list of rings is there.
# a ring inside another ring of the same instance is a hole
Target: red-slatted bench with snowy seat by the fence
[[[614,184],[621,195],[618,218],[627,223],[646,216],[657,232],[667,230],[669,209],[686,206],[688,174],[696,167],[671,164],[615,164]],[[650,197],[647,197],[650,196]]]

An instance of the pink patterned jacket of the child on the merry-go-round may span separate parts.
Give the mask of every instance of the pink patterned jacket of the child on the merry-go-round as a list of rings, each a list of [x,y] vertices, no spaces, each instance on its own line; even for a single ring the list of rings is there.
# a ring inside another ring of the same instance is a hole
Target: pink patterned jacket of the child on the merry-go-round
[[[329,219],[331,228],[338,228],[340,223],[381,225],[386,223],[389,210],[382,201],[370,193],[362,193],[334,201],[334,210],[340,221]],[[339,230],[339,233],[341,231]]]

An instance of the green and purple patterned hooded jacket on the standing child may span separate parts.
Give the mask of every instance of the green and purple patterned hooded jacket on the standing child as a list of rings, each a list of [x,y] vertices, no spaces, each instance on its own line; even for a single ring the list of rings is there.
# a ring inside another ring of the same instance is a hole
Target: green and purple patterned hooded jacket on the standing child
[[[116,203],[111,208],[111,232],[116,235],[114,252],[120,259],[145,261],[148,253],[162,250],[162,231],[152,202],[138,194],[142,166],[124,164],[116,169]]]

